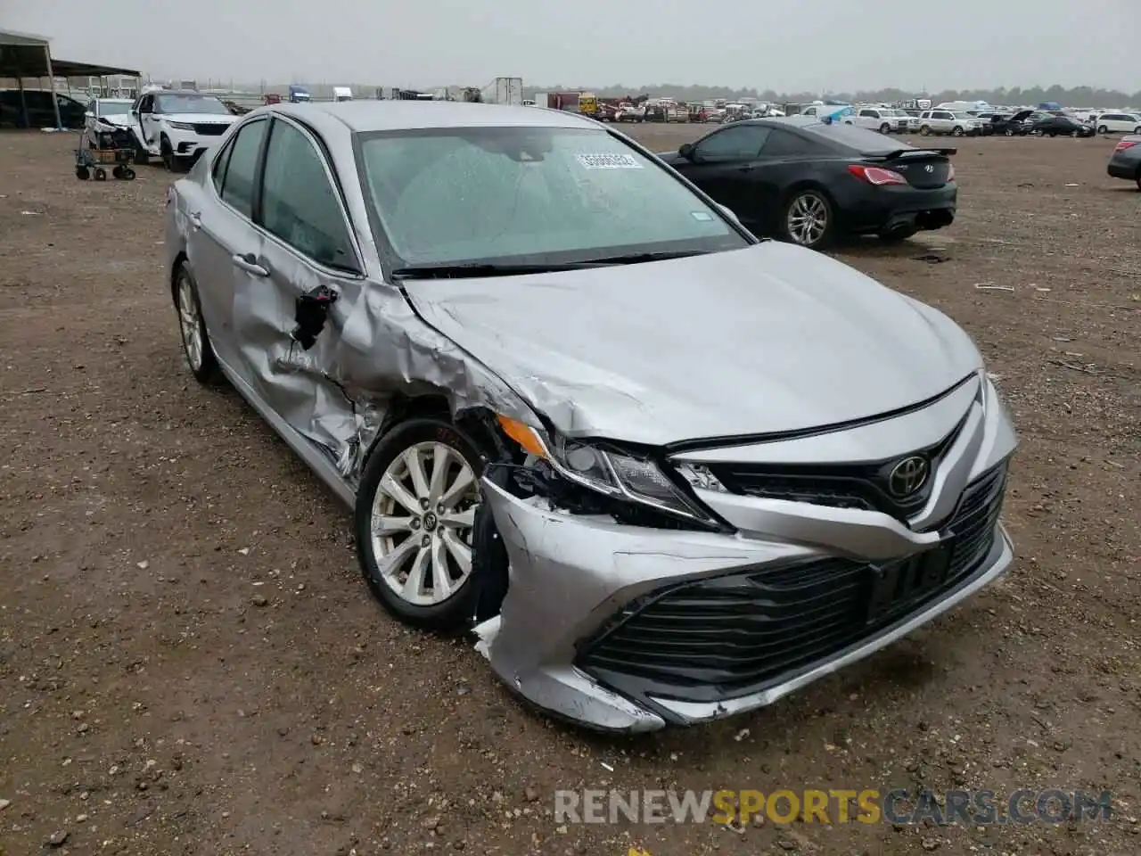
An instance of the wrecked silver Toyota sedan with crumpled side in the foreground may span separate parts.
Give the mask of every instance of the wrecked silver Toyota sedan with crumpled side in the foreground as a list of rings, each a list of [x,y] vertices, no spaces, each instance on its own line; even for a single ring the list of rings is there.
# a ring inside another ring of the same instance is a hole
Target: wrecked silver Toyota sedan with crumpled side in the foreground
[[[191,371],[354,509],[380,603],[553,714],[768,704],[1011,562],[968,336],[589,119],[260,108],[171,188],[167,253]]]

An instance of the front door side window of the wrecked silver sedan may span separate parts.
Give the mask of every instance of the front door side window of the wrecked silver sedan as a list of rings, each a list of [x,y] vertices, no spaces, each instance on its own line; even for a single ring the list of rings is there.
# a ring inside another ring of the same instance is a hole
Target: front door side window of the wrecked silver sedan
[[[233,163],[229,171],[234,171]],[[357,268],[345,215],[324,161],[313,143],[289,122],[274,122],[269,135],[261,184],[261,225],[314,261],[342,270]]]

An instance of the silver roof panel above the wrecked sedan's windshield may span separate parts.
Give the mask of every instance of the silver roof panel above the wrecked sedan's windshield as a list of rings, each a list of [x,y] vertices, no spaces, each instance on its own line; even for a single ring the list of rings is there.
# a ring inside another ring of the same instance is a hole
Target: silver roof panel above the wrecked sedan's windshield
[[[389,131],[413,128],[512,127],[598,128],[592,119],[563,110],[508,107],[468,102],[356,100],[274,104],[269,112],[300,120],[315,111],[340,120],[354,131]]]

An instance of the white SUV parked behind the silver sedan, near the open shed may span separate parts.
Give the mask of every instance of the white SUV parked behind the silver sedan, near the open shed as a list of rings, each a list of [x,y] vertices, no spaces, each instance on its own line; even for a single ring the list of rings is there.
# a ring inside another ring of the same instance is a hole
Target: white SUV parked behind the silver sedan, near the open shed
[[[172,172],[189,168],[237,121],[215,96],[177,89],[140,95],[131,119],[135,162],[161,158]]]

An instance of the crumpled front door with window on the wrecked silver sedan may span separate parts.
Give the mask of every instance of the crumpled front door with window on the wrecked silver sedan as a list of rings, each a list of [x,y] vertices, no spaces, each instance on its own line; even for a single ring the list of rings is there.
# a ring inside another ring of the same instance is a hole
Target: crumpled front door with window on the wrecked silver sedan
[[[334,455],[356,437],[351,402],[334,377],[364,263],[321,138],[280,115],[266,146],[258,223],[264,240],[250,261],[266,275],[249,301],[235,304],[242,356],[267,403]]]

